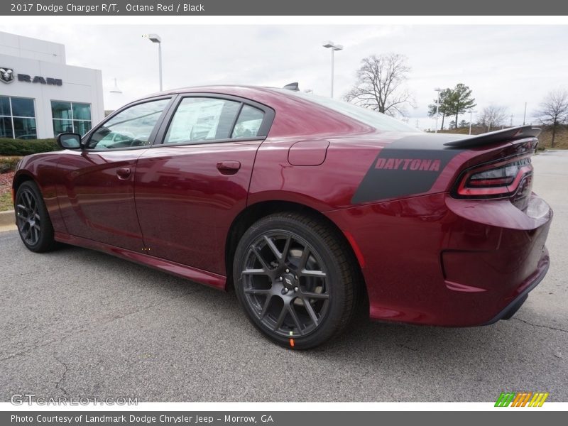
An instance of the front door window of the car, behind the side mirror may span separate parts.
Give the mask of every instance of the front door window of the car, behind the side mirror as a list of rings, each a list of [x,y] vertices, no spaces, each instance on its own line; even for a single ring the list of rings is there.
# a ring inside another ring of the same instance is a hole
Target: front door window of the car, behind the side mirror
[[[92,133],[89,148],[121,149],[148,145],[155,124],[169,102],[170,99],[160,99],[121,111]]]

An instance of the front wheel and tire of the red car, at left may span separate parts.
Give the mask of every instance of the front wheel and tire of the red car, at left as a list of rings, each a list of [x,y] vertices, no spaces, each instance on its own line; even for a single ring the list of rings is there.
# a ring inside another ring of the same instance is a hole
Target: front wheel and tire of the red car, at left
[[[53,225],[35,182],[26,180],[18,187],[14,210],[18,233],[29,250],[41,253],[55,248]]]

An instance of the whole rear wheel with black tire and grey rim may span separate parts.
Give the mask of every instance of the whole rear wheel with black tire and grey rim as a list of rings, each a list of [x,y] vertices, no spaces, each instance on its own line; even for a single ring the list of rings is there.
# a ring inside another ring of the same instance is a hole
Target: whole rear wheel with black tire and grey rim
[[[249,320],[292,349],[313,348],[346,329],[361,276],[338,231],[295,212],[271,214],[244,233],[233,275]]]

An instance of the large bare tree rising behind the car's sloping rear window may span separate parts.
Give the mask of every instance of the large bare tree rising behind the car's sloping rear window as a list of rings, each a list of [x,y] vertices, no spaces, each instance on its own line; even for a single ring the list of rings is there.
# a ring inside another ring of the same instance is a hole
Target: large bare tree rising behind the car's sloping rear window
[[[407,107],[415,107],[413,95],[405,86],[410,67],[404,55],[372,55],[361,60],[357,82],[344,99],[361,107],[390,116],[408,116]]]

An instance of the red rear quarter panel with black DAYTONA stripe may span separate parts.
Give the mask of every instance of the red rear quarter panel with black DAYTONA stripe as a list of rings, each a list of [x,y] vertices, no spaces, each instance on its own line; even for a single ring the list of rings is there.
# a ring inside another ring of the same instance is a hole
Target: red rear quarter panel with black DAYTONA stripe
[[[249,204],[284,200],[327,212],[449,192],[462,170],[513,155],[533,143],[521,140],[457,149],[443,146],[454,135],[352,130],[268,138],[257,153]],[[329,141],[322,164],[290,164],[290,146],[305,140]],[[413,170],[415,160],[417,168]],[[435,162],[437,167],[422,168]]]

